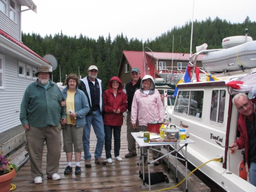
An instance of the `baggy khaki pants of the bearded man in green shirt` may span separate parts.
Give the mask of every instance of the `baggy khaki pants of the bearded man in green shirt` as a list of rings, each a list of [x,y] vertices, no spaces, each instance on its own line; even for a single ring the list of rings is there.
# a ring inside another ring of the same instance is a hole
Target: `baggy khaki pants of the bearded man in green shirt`
[[[26,150],[28,151],[31,166],[32,177],[41,176],[42,173],[42,156],[44,150],[44,142],[47,146],[46,154],[46,174],[48,178],[52,178],[54,173],[58,173],[59,160],[61,152],[61,126],[47,126],[43,128],[36,128],[30,126],[26,130]]]

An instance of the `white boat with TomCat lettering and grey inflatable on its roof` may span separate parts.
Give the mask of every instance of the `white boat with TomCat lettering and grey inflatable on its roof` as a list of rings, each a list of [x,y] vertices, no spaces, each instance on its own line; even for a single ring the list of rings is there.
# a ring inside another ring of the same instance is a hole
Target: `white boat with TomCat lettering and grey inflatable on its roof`
[[[251,91],[255,85],[252,79],[256,72],[255,43],[256,41],[251,41],[225,50],[205,51],[206,68],[210,71],[218,70],[211,65],[218,62],[222,65],[220,68],[225,70],[200,76],[200,82],[192,79],[191,82],[178,84],[174,108],[167,111],[167,117],[172,119],[171,124],[179,129],[187,128],[190,139],[195,141],[188,145],[188,161],[192,165],[198,167],[216,156],[222,156],[222,162],[209,162],[200,171],[230,192],[256,191],[256,187],[239,176],[244,149],[234,153],[228,149],[240,136],[237,130],[238,110],[232,104],[232,98],[238,92],[248,93],[249,98],[252,98]],[[239,48],[242,53],[238,52]],[[234,50],[235,56],[230,54]],[[239,63],[239,58],[242,64]],[[236,70],[230,70],[230,65],[226,64],[230,62]],[[249,68],[249,65],[254,67]],[[236,84],[237,88],[227,85],[228,82],[236,81],[242,81],[243,84]]]

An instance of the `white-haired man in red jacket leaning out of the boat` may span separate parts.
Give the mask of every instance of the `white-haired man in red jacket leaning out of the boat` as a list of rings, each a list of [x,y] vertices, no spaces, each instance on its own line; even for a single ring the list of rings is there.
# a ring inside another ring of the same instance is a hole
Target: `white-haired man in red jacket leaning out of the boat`
[[[249,99],[244,93],[238,93],[232,100],[239,114],[237,126],[240,137],[230,145],[230,150],[245,150],[246,163],[250,173],[250,183],[256,186],[256,129],[255,129],[255,99]]]

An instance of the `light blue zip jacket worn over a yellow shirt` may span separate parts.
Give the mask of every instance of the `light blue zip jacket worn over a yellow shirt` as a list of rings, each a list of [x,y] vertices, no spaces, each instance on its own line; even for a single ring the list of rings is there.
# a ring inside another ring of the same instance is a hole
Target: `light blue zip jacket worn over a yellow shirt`
[[[66,100],[68,94],[68,87],[64,88],[62,90],[63,96]],[[88,99],[85,96],[84,92],[76,88],[76,93],[75,93],[75,113],[76,113],[76,127],[82,127],[86,124],[86,114],[89,112],[90,107],[88,104]]]

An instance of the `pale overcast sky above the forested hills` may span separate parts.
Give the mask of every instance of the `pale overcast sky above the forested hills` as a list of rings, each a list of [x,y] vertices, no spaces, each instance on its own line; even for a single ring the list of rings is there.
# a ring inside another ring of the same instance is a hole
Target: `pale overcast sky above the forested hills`
[[[33,0],[37,14],[22,12],[22,31],[68,36],[99,36],[113,40],[123,33],[128,40],[154,40],[174,26],[192,21],[193,0]],[[22,7],[26,9],[26,7]],[[242,23],[256,21],[256,0],[194,0],[193,20],[218,16]],[[250,29],[248,32],[250,36]],[[175,38],[175,37],[174,37]]]

